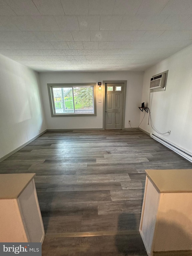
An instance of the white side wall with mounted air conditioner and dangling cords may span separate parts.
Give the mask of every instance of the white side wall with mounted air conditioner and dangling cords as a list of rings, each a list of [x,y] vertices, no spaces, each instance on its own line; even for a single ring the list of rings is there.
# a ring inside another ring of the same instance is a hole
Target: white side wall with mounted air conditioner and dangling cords
[[[161,133],[171,130],[170,135],[159,136],[192,152],[192,46],[145,71],[142,101],[148,106],[150,79],[166,70],[169,70],[166,90],[151,93],[152,121]],[[148,132],[153,131],[147,123],[148,114],[140,127]]]

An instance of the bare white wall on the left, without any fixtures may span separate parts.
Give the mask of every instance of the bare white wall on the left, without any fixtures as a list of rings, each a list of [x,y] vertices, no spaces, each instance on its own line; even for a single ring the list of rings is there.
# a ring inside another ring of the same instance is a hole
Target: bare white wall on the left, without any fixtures
[[[46,130],[38,84],[38,73],[0,55],[0,158]]]

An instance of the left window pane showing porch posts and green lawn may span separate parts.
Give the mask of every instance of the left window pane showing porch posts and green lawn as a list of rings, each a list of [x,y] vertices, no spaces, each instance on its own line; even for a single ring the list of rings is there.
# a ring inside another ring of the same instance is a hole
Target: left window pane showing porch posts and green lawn
[[[55,113],[74,113],[73,90],[71,87],[53,88]]]

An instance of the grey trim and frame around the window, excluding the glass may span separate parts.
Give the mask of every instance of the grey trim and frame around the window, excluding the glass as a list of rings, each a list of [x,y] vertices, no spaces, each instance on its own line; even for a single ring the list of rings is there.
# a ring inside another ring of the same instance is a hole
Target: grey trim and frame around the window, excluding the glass
[[[73,87],[73,86],[93,86],[93,99],[94,99],[94,113],[64,113],[64,114],[55,114],[55,105],[54,98],[52,94],[53,87]],[[96,83],[48,83],[48,94],[49,94],[49,104],[51,108],[52,117],[66,117],[66,116],[97,116],[96,111]]]

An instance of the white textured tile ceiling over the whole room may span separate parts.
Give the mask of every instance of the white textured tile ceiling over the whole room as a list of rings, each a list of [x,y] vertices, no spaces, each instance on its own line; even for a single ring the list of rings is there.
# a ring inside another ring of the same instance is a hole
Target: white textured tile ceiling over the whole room
[[[143,71],[192,44],[192,0],[0,0],[0,53],[36,71]]]

